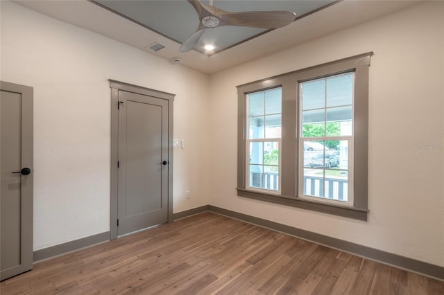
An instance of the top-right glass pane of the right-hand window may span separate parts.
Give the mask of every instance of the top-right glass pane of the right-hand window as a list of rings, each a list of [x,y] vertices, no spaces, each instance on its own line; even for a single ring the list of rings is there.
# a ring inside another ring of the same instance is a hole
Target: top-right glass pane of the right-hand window
[[[352,104],[352,79],[353,73],[327,78],[327,107]]]

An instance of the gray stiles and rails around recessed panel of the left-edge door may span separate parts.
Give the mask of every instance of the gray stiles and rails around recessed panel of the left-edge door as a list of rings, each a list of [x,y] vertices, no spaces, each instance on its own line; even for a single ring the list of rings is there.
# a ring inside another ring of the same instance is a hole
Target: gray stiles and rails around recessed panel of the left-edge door
[[[22,176],[22,218],[21,218],[21,264],[1,271],[1,280],[21,274],[33,268],[33,233],[34,233],[34,89],[33,87],[0,81],[0,89],[22,96],[22,168],[31,168],[26,175],[26,187]]]

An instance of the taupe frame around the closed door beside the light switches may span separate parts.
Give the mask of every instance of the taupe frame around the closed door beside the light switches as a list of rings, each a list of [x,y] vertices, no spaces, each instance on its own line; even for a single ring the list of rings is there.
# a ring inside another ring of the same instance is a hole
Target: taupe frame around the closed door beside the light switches
[[[119,201],[119,90],[151,96],[168,101],[168,222],[173,221],[173,101],[175,94],[140,87],[116,80],[108,80],[111,88],[111,186],[110,240],[117,239]]]

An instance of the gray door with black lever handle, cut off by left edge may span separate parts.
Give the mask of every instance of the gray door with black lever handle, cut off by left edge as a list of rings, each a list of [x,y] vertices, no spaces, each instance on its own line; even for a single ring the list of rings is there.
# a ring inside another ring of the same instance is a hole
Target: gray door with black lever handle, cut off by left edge
[[[33,268],[33,88],[1,82],[1,280]]]

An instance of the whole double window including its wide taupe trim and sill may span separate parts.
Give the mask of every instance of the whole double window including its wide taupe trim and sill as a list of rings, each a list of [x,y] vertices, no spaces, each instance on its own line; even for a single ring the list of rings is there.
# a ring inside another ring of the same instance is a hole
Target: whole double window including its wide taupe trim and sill
[[[372,54],[237,87],[239,196],[367,220]]]

